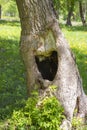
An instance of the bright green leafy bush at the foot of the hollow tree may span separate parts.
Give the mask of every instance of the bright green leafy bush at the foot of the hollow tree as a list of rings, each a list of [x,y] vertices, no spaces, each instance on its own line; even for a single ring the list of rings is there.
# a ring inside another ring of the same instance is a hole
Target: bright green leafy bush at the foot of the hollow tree
[[[65,117],[58,100],[54,96],[45,97],[38,103],[38,97],[29,98],[22,110],[13,112],[9,127],[15,126],[18,130],[60,130]]]

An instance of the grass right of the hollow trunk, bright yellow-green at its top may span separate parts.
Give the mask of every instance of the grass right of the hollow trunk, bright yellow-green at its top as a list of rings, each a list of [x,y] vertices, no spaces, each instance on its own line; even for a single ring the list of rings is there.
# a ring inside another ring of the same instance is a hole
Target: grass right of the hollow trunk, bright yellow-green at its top
[[[76,56],[76,63],[87,94],[87,26],[62,26],[62,31]]]

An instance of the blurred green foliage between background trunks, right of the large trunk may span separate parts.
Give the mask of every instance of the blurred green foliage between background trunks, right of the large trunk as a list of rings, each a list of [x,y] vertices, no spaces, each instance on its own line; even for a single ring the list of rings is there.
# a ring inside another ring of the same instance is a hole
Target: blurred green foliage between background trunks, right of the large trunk
[[[71,19],[73,21],[81,21],[79,1],[82,2],[83,14],[87,18],[87,0],[53,0],[59,21],[66,20],[71,10],[73,12]]]

